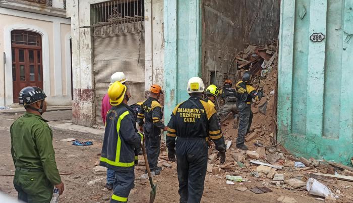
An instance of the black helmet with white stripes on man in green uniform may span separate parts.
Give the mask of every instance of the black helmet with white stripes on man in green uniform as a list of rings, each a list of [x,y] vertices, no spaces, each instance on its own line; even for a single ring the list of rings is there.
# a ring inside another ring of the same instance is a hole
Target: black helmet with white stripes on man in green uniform
[[[25,87],[21,89],[18,98],[20,105],[23,105],[25,108],[32,109],[42,114],[43,102],[40,104],[40,109],[35,109],[28,106],[46,98],[46,95],[41,88],[31,86]]]

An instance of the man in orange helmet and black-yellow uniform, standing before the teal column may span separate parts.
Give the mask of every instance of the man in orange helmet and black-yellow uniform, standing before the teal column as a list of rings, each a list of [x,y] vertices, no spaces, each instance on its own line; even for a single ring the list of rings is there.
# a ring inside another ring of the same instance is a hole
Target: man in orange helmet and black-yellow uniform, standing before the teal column
[[[161,167],[157,167],[161,129],[164,131],[168,129],[168,127],[161,122],[163,113],[162,106],[158,99],[162,93],[162,88],[157,84],[153,84],[150,87],[149,97],[143,102],[142,108],[140,108],[137,115],[137,123],[140,126],[140,131],[143,131],[146,136],[148,164],[150,170],[154,171],[156,175],[159,175],[162,170]],[[147,171],[145,172],[147,173]]]

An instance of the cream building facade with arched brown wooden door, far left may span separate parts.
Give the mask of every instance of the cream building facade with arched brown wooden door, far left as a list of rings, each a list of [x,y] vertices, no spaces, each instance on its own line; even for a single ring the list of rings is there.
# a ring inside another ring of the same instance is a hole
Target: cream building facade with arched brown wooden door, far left
[[[3,0],[0,19],[0,106],[16,106],[26,86],[43,88],[50,106],[71,105],[66,1]]]

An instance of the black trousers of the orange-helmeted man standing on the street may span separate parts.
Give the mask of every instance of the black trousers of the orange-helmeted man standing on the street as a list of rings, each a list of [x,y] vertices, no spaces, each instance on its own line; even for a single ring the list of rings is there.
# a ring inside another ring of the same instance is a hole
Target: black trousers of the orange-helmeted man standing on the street
[[[152,122],[146,122],[143,126],[143,132],[146,136],[146,154],[150,170],[157,168],[160,152],[160,128],[153,125]]]

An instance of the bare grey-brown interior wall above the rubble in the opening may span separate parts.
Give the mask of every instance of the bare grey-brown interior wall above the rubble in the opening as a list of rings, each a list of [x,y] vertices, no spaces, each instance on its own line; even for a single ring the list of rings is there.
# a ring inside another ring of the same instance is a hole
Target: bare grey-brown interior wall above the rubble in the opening
[[[202,78],[217,85],[235,80],[232,60],[246,43],[266,45],[277,39],[279,0],[204,0],[202,5]],[[212,79],[215,81],[215,79]]]

